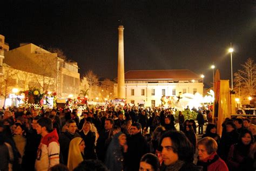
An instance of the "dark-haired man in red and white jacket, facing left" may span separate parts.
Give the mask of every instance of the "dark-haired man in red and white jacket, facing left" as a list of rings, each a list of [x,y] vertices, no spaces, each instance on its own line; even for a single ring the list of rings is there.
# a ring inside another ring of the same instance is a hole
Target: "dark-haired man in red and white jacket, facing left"
[[[50,167],[59,163],[59,137],[56,129],[52,129],[52,121],[49,118],[39,119],[36,131],[42,135],[42,139],[37,150],[35,169],[48,171]]]

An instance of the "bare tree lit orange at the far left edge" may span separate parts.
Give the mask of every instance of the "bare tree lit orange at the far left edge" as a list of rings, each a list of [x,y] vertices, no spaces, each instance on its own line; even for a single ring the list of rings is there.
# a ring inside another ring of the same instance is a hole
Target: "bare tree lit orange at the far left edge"
[[[5,106],[5,101],[6,98],[8,97],[9,93],[11,93],[11,88],[16,86],[16,79],[15,79],[15,69],[8,65],[4,65],[4,74],[1,76],[0,79],[0,88],[1,88],[1,94],[4,97],[4,105]]]

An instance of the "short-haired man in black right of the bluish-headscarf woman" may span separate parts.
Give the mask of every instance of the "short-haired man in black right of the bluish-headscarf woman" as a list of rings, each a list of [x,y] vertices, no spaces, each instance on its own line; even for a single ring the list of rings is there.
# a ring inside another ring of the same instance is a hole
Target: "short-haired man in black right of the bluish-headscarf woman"
[[[147,153],[147,142],[142,135],[142,125],[133,123],[130,127],[131,136],[127,138],[127,170],[139,170],[139,162],[144,154]]]

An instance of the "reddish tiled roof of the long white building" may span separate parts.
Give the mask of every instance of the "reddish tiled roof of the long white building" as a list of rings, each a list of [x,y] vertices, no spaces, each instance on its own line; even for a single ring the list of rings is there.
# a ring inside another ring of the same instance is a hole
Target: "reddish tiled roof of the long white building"
[[[125,80],[199,80],[190,70],[134,70],[125,73]]]

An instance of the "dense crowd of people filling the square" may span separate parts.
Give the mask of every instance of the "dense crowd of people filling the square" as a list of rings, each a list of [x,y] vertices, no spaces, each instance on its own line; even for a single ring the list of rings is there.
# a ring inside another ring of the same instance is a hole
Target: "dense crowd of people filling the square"
[[[68,108],[5,110],[0,170],[256,169],[255,123],[227,118],[221,136],[211,123],[204,133],[204,111],[197,112],[196,120],[185,120],[161,107],[88,107],[80,116]]]

